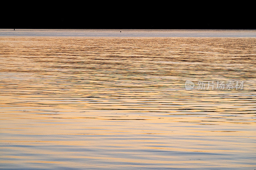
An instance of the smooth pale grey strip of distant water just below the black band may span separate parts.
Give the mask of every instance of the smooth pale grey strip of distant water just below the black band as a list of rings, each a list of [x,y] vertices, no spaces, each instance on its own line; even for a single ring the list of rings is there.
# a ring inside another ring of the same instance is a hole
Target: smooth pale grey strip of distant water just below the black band
[[[120,32],[121,31],[121,32]],[[0,29],[0,37],[234,37],[256,38],[256,30]]]

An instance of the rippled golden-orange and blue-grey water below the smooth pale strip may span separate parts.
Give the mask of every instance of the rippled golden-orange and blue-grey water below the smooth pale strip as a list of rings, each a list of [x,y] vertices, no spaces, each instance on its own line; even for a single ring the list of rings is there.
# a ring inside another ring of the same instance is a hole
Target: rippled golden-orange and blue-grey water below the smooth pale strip
[[[0,31],[0,169],[256,168],[255,38],[60,34]]]

